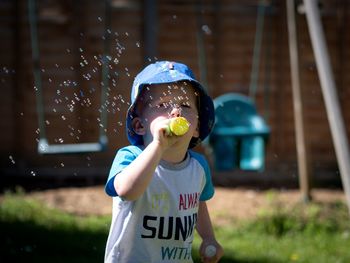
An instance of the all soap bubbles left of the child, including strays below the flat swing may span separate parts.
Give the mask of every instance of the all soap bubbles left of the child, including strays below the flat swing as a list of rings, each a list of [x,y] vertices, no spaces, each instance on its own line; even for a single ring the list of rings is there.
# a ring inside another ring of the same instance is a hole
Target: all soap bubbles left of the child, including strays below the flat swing
[[[99,22],[103,22],[101,17],[97,18]],[[129,37],[129,33],[125,32],[123,34],[125,37]],[[80,33],[81,37],[84,37],[83,33]],[[89,54],[84,50],[84,48],[80,47],[77,50],[72,48],[66,48],[65,51],[67,54],[71,54],[76,56],[78,54],[79,61],[76,62],[76,65],[70,66],[61,66],[58,63],[54,64],[56,69],[62,70],[70,70],[74,72],[75,75],[78,74],[78,80],[75,79],[64,79],[63,81],[57,83],[55,82],[54,76],[49,75],[49,71],[45,68],[41,69],[41,74],[44,76],[43,79],[48,81],[48,84],[52,87],[54,85],[54,93],[51,98],[52,103],[48,101],[48,93],[45,89],[39,90],[40,87],[34,86],[34,92],[42,92],[42,96],[44,97],[44,108],[47,110],[47,105],[50,105],[51,114],[44,114],[44,127],[52,126],[53,124],[62,122],[63,126],[68,128],[67,134],[61,134],[60,136],[53,138],[52,143],[54,144],[65,144],[66,135],[72,137],[74,141],[79,143],[82,134],[84,133],[83,129],[77,128],[73,123],[76,122],[76,119],[80,119],[81,121],[86,121],[87,123],[97,124],[96,128],[104,132],[107,132],[106,127],[106,118],[108,114],[119,114],[121,112],[121,107],[125,105],[128,107],[128,100],[123,97],[122,94],[118,94],[118,79],[121,77],[121,74],[124,72],[126,77],[131,77],[131,73],[128,67],[124,67],[116,70],[115,68],[119,66],[120,61],[122,60],[122,56],[126,50],[126,47],[119,40],[121,35],[118,32],[112,32],[111,29],[106,29],[101,39],[103,41],[107,40],[107,37],[111,39],[111,47],[113,48],[113,56],[106,54]],[[114,39],[114,40],[113,40]],[[136,41],[135,46],[137,48],[141,47],[141,43]],[[2,68],[3,72],[9,74],[11,72],[7,67]],[[106,76],[102,76],[103,72],[106,72]],[[104,79],[104,78],[107,79]],[[101,80],[100,80],[101,79]],[[106,84],[106,81],[108,84]],[[84,89],[81,87],[81,83],[86,82],[88,85],[84,85]],[[91,83],[93,82],[93,83]],[[96,87],[99,86],[99,87]],[[44,84],[45,87],[45,84]],[[116,93],[116,94],[115,94]],[[115,95],[113,95],[115,94]],[[78,109],[89,109],[89,111],[93,111],[95,109],[96,104],[97,107],[97,116],[93,118],[94,114],[87,114],[85,120],[82,120],[82,116],[76,114]],[[23,116],[24,113],[21,113]],[[78,117],[77,117],[78,115]],[[50,116],[50,117],[49,117]],[[52,116],[57,116],[52,118]],[[92,118],[92,119],[91,119]],[[74,121],[73,121],[74,119]],[[116,118],[115,118],[116,119]],[[59,124],[60,125],[60,124]],[[117,133],[120,131],[120,127],[123,126],[123,121],[116,120],[113,122],[114,128],[113,131]],[[35,130],[37,134],[36,141],[39,143],[39,138],[42,136],[42,131],[40,128]],[[15,164],[15,160],[13,156],[9,157],[10,162]],[[87,158],[87,165],[91,165],[91,157]],[[60,162],[55,168],[65,167],[63,162]],[[36,176],[37,172],[30,171],[31,176]]]

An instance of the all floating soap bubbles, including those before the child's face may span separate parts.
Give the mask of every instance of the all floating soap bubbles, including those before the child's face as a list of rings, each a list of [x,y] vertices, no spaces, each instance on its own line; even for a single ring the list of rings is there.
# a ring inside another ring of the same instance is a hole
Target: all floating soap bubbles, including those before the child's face
[[[176,20],[177,16],[173,15],[173,19]],[[103,22],[103,19],[101,17],[97,17],[97,20],[98,22],[101,22],[101,23]],[[201,29],[205,34],[208,34],[208,35],[211,34],[211,30],[207,25],[203,25]],[[84,34],[80,33],[80,36],[84,37]],[[73,137],[76,141],[80,140],[83,133],[81,129],[74,127],[70,121],[70,117],[72,116],[73,113],[75,113],[77,107],[92,108],[93,104],[99,103],[99,107],[98,107],[99,117],[97,117],[95,121],[97,122],[99,128],[103,128],[104,131],[107,132],[107,127],[105,127],[105,121],[104,121],[105,118],[102,117],[103,114],[115,115],[121,111],[120,108],[122,105],[126,105],[127,107],[129,106],[129,103],[127,102],[127,100],[123,98],[123,95],[121,94],[111,95],[112,89],[117,88],[117,84],[118,84],[117,79],[121,76],[120,75],[121,72],[124,72],[124,74],[127,77],[131,77],[129,68],[124,67],[123,70],[115,70],[114,68],[117,65],[119,65],[121,61],[121,57],[126,50],[126,47],[119,40],[119,36],[120,35],[118,32],[112,32],[111,29],[106,29],[106,31],[101,36],[101,39],[103,41],[106,41],[107,37],[109,39],[114,38],[114,41],[111,42],[112,47],[114,48],[113,56],[96,54],[96,55],[92,55],[91,58],[89,58],[85,50],[81,47],[78,48],[77,51],[74,51],[71,48],[66,48],[66,52],[68,54],[76,54],[76,53],[79,54],[79,62],[77,63],[77,66],[78,68],[80,67],[80,69],[78,69],[76,66],[73,66],[73,65],[68,66],[68,69],[75,73],[81,74],[81,81],[98,82],[96,81],[96,79],[100,78],[100,75],[104,70],[103,67],[107,67],[109,71],[107,75],[108,85],[107,87],[105,87],[106,84],[104,83],[103,80],[101,80],[99,83],[100,89],[98,89],[104,92],[105,94],[103,95],[100,95],[99,93],[97,94],[96,88],[94,88],[93,85],[91,84],[88,86],[87,91],[86,90],[83,91],[82,89],[80,89],[80,85],[79,85],[80,81],[65,79],[61,83],[55,84],[57,86],[55,87],[56,89],[55,96],[52,98],[53,103],[50,104],[47,100],[44,100],[46,104],[52,105],[52,108],[51,108],[52,112],[54,113],[54,115],[60,116],[59,120],[64,122],[68,127],[69,136]],[[129,37],[129,33],[125,32],[124,36]],[[141,48],[141,43],[139,41],[136,41],[135,46],[137,48]],[[157,60],[156,57],[153,59]],[[153,59],[149,58],[149,61],[151,62]],[[61,69],[61,66],[58,63],[55,63],[54,67],[57,69]],[[5,74],[14,73],[14,70],[9,69],[8,67],[3,67],[2,71]],[[41,69],[41,73],[48,75],[48,73],[44,68]],[[55,83],[53,76],[46,76],[46,79],[50,85],[53,85],[53,83]],[[3,81],[3,79],[1,79],[1,81]],[[35,92],[39,91],[39,87],[34,86],[33,89]],[[73,92],[72,92],[72,89],[74,90]],[[184,96],[186,97],[185,89],[183,89],[183,91],[184,91]],[[98,95],[96,97],[103,96],[102,98],[104,98],[104,101],[96,102],[94,99],[92,99],[92,97],[95,96],[95,94]],[[170,88],[167,94],[171,94]],[[166,94],[164,94],[164,96],[166,96]],[[178,100],[179,101],[184,100],[183,96],[179,96]],[[174,103],[176,103],[176,101],[169,102],[169,106],[171,106]],[[20,114],[21,116],[24,115],[23,112],[21,112]],[[74,116],[74,118],[76,118],[76,116]],[[86,121],[89,121],[89,120],[87,119]],[[44,120],[44,125],[46,127],[52,125],[52,123],[54,122],[50,118]],[[113,131],[117,133],[119,130],[118,127],[123,126],[123,122],[116,121],[115,125],[116,127],[113,128]],[[36,129],[35,132],[38,135],[38,137],[40,137],[40,133],[41,133],[40,129],[39,128]],[[64,136],[54,138],[53,140],[54,143],[64,144],[65,139],[63,137]],[[36,140],[37,142],[39,142],[39,139],[36,139]],[[15,164],[15,160],[13,156],[10,155],[9,159],[12,164]],[[90,164],[90,161],[91,161],[91,158],[89,157],[88,159],[89,164]],[[64,167],[64,163],[61,162],[58,165],[58,167]],[[35,171],[30,171],[30,174],[32,176],[36,176],[37,173]]]

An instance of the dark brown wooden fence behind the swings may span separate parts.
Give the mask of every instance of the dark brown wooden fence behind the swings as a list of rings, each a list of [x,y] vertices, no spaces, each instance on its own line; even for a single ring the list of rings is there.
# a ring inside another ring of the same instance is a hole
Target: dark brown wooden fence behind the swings
[[[318,8],[348,136],[350,5],[324,0]],[[294,11],[308,180],[339,187],[300,1]],[[269,128],[259,169],[217,169],[215,147],[197,148],[216,185],[299,185],[286,1],[2,0],[0,12],[2,188],[103,184],[128,144],[133,79],[157,60],[189,65],[214,99],[244,95]]]

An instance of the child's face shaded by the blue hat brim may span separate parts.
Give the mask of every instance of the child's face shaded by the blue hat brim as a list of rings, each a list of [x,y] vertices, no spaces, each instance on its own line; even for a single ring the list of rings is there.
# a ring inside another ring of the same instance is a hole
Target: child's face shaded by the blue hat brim
[[[139,100],[138,116],[150,134],[150,126],[154,120],[185,117],[190,122],[190,129],[184,135],[189,138],[198,137],[197,95],[191,84],[186,82],[154,85],[142,91]],[[146,138],[147,140],[147,138]]]

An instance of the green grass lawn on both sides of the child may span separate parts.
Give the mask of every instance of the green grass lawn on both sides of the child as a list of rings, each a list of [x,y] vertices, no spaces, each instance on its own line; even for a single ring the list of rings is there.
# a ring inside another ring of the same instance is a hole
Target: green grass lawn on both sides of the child
[[[103,262],[109,224],[109,216],[74,216],[6,194],[0,203],[0,262]],[[341,202],[288,209],[271,202],[258,218],[232,219],[215,232],[225,249],[221,262],[350,262],[350,219]],[[198,246],[196,236],[195,262]]]

